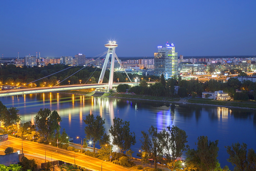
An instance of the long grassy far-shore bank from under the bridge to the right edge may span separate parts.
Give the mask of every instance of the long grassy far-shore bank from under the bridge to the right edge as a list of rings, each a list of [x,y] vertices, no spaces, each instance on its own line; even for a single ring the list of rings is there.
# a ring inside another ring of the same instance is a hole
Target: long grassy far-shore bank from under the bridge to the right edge
[[[136,94],[124,94],[124,93],[101,93],[101,92],[90,92],[87,90],[68,90],[58,91],[57,93],[64,94],[77,94],[77,95],[89,95],[98,97],[113,97],[120,99],[133,99],[133,100],[148,100],[148,101],[160,101],[169,103],[183,103],[183,104],[195,104],[195,105],[206,105],[206,106],[218,106],[226,108],[239,108],[239,109],[251,109],[255,110],[255,102],[239,102],[239,101],[220,101],[211,99],[199,99],[199,98],[171,98],[171,97],[158,97],[150,95],[136,95]]]

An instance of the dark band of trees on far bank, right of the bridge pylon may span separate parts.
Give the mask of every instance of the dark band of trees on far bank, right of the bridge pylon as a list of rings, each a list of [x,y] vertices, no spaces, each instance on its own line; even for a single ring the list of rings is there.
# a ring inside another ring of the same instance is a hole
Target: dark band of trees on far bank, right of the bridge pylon
[[[180,86],[175,92],[174,86]],[[120,84],[117,87],[117,92],[130,92],[135,94],[163,96],[163,97],[187,97],[191,95],[196,97],[201,96],[204,91],[219,91],[224,90],[234,100],[249,100],[256,99],[256,83],[252,81],[239,81],[237,78],[230,78],[226,82],[223,80],[210,79],[209,81],[199,81],[192,78],[191,80],[184,80],[181,77],[173,77],[165,80],[164,75],[160,77],[160,81],[154,85],[149,85],[145,80],[140,81],[138,86],[129,87],[128,84]],[[242,92],[236,92],[241,90]],[[253,90],[253,93],[251,93]]]

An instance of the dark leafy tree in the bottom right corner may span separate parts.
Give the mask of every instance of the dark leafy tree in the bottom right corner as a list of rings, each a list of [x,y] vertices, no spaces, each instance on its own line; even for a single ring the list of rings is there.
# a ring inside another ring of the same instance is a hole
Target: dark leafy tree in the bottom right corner
[[[234,143],[226,148],[229,154],[227,161],[235,166],[234,170],[256,170],[256,154],[249,149],[247,155],[247,144]]]

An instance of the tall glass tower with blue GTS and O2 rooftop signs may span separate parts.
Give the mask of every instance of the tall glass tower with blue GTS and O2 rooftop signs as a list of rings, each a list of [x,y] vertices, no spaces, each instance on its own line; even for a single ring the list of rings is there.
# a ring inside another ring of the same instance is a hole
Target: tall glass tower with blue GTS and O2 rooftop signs
[[[158,46],[155,53],[155,75],[164,74],[165,79],[178,75],[178,53],[175,52],[174,44],[166,43],[166,46]]]

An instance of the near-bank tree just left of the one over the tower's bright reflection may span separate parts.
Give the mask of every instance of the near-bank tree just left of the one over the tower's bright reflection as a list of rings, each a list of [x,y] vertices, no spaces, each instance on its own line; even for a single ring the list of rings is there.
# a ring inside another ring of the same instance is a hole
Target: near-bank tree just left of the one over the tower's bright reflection
[[[141,131],[143,140],[140,140],[142,143],[141,148],[148,154],[151,154],[151,157],[155,161],[155,169],[157,167],[156,163],[159,157],[163,155],[163,142],[165,134],[163,131],[157,132],[157,128],[153,125],[148,130],[148,133]]]

